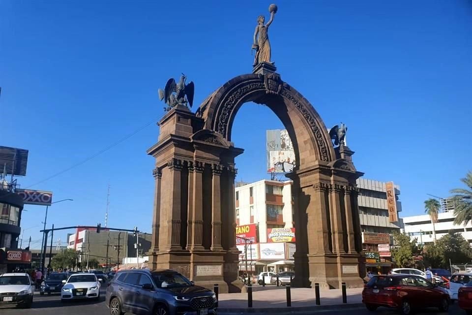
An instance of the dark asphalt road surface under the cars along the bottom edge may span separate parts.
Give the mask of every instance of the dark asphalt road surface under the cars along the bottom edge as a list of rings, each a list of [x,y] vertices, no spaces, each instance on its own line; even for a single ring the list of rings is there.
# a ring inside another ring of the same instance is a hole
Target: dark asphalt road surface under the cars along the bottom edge
[[[30,310],[0,308],[1,315],[109,315],[110,312],[105,306],[105,291],[100,292],[100,301],[81,301],[61,303],[59,295],[34,295],[33,307]],[[317,310],[312,313],[300,313],[299,315],[315,314],[315,313],[329,313],[330,315],[397,315],[398,312],[391,309],[380,308],[376,312],[369,312],[365,308],[350,308],[343,310]],[[222,314],[222,313],[220,313]],[[294,313],[292,313],[293,315]],[[298,314],[298,313],[296,313]],[[451,305],[449,313],[440,313],[438,309],[426,309],[418,311],[415,315],[465,315],[465,312],[460,310],[457,303]]]

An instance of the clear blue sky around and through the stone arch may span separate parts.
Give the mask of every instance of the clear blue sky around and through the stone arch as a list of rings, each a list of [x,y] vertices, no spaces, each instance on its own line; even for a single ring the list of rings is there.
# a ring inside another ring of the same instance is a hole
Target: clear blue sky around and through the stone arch
[[[161,117],[157,89],[180,72],[195,103],[252,70],[256,18],[267,1],[0,1],[0,145],[29,150],[29,187]],[[344,122],[365,177],[401,186],[401,216],[447,196],[471,165],[472,5],[450,1],[278,1],[272,61],[327,127]],[[195,110],[195,108],[194,108]],[[233,141],[237,180],[266,178],[264,106],[244,105]],[[34,189],[54,199],[56,226],[104,223],[150,231],[151,124]],[[26,206],[22,226],[43,220]],[[48,224],[48,225],[49,225]],[[33,247],[37,227],[25,232]],[[65,240],[65,233],[55,235]]]

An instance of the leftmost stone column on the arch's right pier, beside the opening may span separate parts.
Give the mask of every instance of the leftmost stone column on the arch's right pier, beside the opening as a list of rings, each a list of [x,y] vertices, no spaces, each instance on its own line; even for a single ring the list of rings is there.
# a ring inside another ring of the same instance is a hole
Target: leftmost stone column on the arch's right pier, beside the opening
[[[313,201],[316,203],[316,209],[319,211],[320,216],[314,216],[314,214],[312,214],[313,218],[309,217],[308,226],[311,226],[311,222],[315,223],[318,221],[316,225],[313,225],[317,226],[315,231],[315,243],[317,246],[315,252],[311,253],[324,254],[331,253],[332,250],[329,247],[329,238],[331,237],[329,235],[328,226],[329,213],[326,211],[326,205],[329,204],[328,200],[326,200],[326,192],[329,191],[329,187],[330,185],[326,183],[317,183],[313,185],[313,190],[315,191],[315,198]]]

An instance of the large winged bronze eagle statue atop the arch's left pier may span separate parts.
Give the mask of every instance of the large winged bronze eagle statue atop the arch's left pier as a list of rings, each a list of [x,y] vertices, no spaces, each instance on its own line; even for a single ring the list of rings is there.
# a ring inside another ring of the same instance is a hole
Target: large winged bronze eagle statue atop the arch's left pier
[[[164,90],[159,89],[159,99],[164,100],[167,104],[167,107],[164,108],[166,111],[170,111],[173,107],[177,105],[193,105],[193,95],[195,93],[195,85],[193,81],[190,81],[189,84],[185,84],[187,76],[182,73],[180,80],[176,83],[174,78],[170,78]]]

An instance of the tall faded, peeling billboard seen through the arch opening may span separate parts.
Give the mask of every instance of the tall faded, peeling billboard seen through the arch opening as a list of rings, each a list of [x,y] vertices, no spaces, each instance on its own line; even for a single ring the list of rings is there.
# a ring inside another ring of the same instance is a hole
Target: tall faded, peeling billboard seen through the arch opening
[[[285,129],[266,130],[268,173],[288,173],[295,166],[295,151]]]

